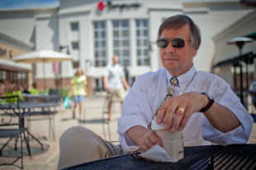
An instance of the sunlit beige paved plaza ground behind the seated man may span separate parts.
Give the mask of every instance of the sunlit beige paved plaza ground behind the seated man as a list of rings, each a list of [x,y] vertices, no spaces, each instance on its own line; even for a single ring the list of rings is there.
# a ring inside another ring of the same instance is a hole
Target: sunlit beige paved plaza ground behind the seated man
[[[36,136],[37,139],[39,139],[45,148],[47,148],[47,145],[50,147],[41,153],[40,151],[40,145],[36,143],[36,140],[31,140],[31,148],[32,148],[32,159],[27,156],[27,154],[24,156],[23,163],[24,163],[24,169],[29,170],[42,170],[42,169],[56,169],[58,160],[59,160],[59,137],[62,135],[62,133],[67,130],[71,126],[85,126],[95,133],[97,133],[99,136],[103,136],[102,132],[102,106],[104,102],[104,97],[89,97],[84,100],[83,108],[85,109],[85,123],[78,122],[77,119],[72,118],[72,111],[71,109],[66,109],[58,107],[57,110],[58,113],[55,114],[55,139],[53,140],[52,136],[48,136],[48,127],[49,127],[49,121],[36,121],[31,123],[31,134]],[[84,110],[83,110],[84,111]],[[115,121],[110,122],[111,127],[111,140],[116,141],[118,140],[118,135],[116,133],[117,130],[117,119],[121,116],[121,107],[120,103],[113,103],[112,108],[112,115]],[[78,112],[77,112],[78,117]],[[105,129],[107,130],[107,125],[105,126]],[[108,140],[108,138],[107,138]],[[0,144],[2,144],[6,141],[6,139],[1,139]],[[256,122],[254,122],[254,129],[251,133],[251,136],[249,138],[249,144],[256,144]],[[23,146],[26,146],[24,143]],[[26,152],[26,148],[23,149]],[[3,159],[0,157],[0,159]],[[0,163],[2,162],[0,160]],[[20,166],[20,160],[16,163]],[[1,166],[0,169],[20,169],[15,166]]]

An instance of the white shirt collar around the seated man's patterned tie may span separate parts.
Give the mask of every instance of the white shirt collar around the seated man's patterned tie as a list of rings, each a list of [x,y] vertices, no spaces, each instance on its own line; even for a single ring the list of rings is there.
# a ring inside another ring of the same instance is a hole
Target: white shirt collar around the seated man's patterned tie
[[[187,85],[192,81],[193,77],[195,76],[196,74],[196,68],[194,66],[194,63],[191,67],[191,69],[189,71],[187,71],[185,74],[183,74],[182,76],[178,76],[178,86],[179,88],[183,91]],[[166,79],[167,79],[167,85],[168,87],[171,86],[171,83],[170,83],[170,79],[173,77],[169,72],[168,70],[166,70],[167,74],[166,74]]]

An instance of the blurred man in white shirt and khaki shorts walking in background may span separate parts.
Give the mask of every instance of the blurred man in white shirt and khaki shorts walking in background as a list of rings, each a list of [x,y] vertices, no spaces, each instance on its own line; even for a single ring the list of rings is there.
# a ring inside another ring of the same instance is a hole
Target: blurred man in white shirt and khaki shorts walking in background
[[[103,83],[104,89],[107,91],[109,101],[112,99],[113,95],[116,94],[122,104],[126,96],[123,85],[125,85],[126,90],[130,90],[130,86],[126,81],[125,72],[119,64],[119,57],[117,55],[114,55],[113,57],[113,64],[109,64],[106,67]],[[108,109],[109,120],[111,121],[111,108]]]

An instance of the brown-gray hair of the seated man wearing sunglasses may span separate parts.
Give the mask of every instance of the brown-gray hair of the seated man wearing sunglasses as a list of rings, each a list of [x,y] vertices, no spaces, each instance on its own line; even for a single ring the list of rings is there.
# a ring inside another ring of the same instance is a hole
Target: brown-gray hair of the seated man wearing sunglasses
[[[181,28],[184,25],[189,25],[191,34],[191,46],[192,48],[199,48],[201,44],[201,33],[198,26],[192,21],[192,19],[186,15],[171,16],[166,19],[159,27],[158,39],[164,30],[172,28]]]

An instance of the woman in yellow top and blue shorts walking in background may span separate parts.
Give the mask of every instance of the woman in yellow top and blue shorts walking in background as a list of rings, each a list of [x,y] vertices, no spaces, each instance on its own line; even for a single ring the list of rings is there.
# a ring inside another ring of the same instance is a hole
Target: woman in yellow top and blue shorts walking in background
[[[71,80],[71,89],[68,96],[70,98],[73,94],[73,118],[75,118],[75,109],[77,104],[79,104],[79,120],[82,120],[83,98],[88,94],[87,85],[87,77],[83,75],[83,70],[78,67],[75,75]]]

